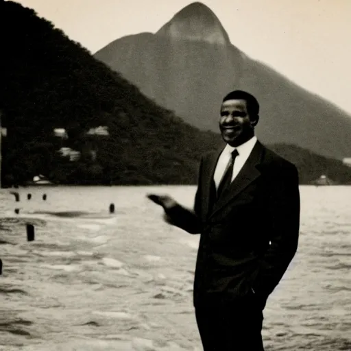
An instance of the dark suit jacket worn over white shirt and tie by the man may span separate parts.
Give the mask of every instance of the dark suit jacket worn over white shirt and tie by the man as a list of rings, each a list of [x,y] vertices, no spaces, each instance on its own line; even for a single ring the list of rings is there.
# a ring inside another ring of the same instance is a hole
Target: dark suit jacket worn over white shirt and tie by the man
[[[170,223],[201,233],[194,305],[212,296],[223,300],[254,291],[263,306],[298,247],[298,171],[259,141],[217,201],[213,175],[222,149],[206,154],[199,168],[194,211],[166,211]]]

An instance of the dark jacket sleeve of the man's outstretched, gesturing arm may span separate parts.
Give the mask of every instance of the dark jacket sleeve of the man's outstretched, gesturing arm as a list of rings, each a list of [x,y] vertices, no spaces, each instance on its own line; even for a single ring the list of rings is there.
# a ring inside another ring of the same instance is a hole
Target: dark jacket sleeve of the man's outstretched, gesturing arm
[[[193,210],[184,208],[180,204],[165,209],[165,219],[169,224],[177,226],[191,234],[199,234],[202,231],[202,223],[200,220],[202,163],[201,160]]]

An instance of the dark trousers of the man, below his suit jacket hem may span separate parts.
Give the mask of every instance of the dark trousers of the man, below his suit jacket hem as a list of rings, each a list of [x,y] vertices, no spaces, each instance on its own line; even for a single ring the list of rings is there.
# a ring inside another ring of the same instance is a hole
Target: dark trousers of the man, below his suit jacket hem
[[[235,302],[216,300],[195,306],[204,351],[264,351],[263,308],[254,296]]]

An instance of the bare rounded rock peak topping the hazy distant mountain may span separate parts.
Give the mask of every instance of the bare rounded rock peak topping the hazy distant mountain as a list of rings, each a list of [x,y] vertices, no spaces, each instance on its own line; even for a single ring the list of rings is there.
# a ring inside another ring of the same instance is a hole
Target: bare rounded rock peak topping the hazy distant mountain
[[[230,45],[228,34],[217,16],[200,2],[191,3],[180,10],[156,35]]]

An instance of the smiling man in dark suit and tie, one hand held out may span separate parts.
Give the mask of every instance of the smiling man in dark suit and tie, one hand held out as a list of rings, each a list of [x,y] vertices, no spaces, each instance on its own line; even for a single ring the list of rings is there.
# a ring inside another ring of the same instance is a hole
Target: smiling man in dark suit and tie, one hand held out
[[[266,300],[298,247],[298,171],[257,140],[258,112],[249,93],[224,97],[226,147],[202,158],[193,211],[148,195],[169,223],[201,234],[193,298],[204,351],[263,350]]]

